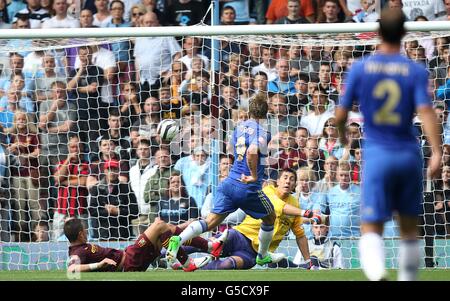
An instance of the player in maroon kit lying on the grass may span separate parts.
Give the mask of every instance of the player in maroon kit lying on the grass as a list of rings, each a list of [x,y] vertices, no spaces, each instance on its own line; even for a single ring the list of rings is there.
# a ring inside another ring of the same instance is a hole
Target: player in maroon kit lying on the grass
[[[156,219],[147,230],[144,231],[133,245],[125,250],[103,248],[99,245],[87,242],[87,230],[81,220],[71,218],[64,224],[64,234],[70,242],[69,246],[69,272],[139,272],[146,271],[149,265],[156,260],[162,247],[167,248],[170,237],[182,231],[181,226],[174,226]],[[208,241],[197,237],[189,241],[189,245],[199,248],[204,252],[217,253],[221,251],[223,243]],[[174,269],[182,268],[187,272],[207,264],[211,256],[201,258],[189,257],[183,248],[178,252],[177,260],[172,266]]]

